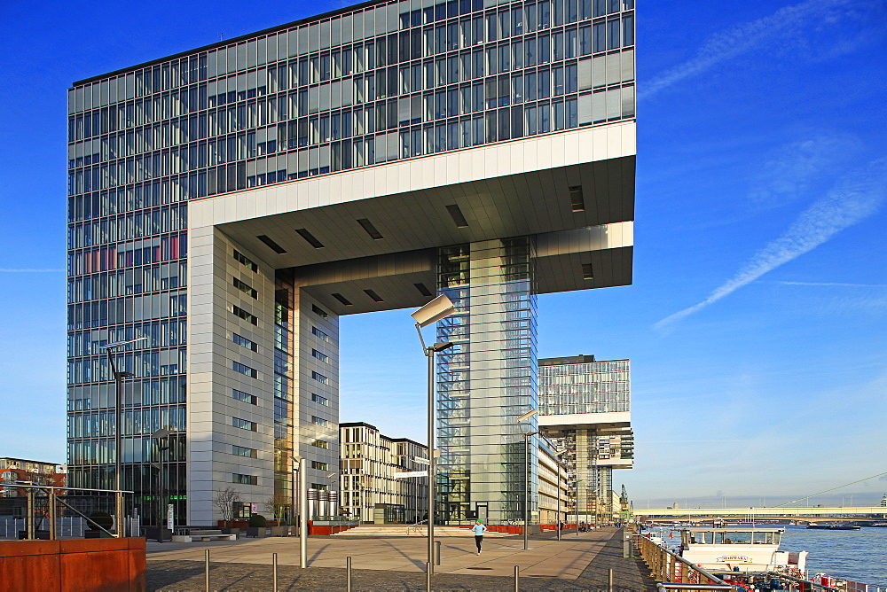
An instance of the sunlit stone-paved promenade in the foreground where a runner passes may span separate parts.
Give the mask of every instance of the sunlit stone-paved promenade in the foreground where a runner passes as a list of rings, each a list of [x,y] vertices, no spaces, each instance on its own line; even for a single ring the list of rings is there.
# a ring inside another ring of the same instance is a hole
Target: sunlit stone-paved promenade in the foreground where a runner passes
[[[475,554],[474,539],[442,539],[442,565],[436,566],[434,590],[514,590],[514,565],[520,566],[522,590],[607,590],[608,570],[615,589],[655,590],[655,582],[637,557],[622,557],[621,531],[564,533],[530,537],[523,550],[521,537],[483,542]],[[351,557],[352,589],[424,590],[425,539],[310,537],[309,567],[299,565],[295,537],[234,542],[148,543],[149,590],[204,589],[203,559],[210,550],[213,590],[271,590],[271,554],[278,554],[279,590],[346,589],[345,557]]]

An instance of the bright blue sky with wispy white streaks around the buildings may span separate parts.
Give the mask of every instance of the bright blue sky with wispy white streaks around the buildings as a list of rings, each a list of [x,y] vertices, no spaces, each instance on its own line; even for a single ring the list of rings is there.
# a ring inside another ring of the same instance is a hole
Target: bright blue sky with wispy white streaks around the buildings
[[[539,354],[632,360],[639,506],[887,471],[887,6],[639,4],[634,284],[540,297]],[[0,456],[65,456],[70,83],[342,5],[0,6]],[[408,312],[343,320],[341,419],[424,440]]]

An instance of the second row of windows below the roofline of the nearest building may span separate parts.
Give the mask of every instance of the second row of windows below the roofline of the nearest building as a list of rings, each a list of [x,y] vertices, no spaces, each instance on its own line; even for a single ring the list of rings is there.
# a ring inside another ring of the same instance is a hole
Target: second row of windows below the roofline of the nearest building
[[[257,73],[251,73],[248,76],[240,74],[227,80],[222,78],[210,82],[208,85],[195,86],[187,92],[165,93],[162,96],[145,98],[144,101],[139,99],[128,105],[115,105],[84,115],[72,116],[68,121],[69,141],[76,142],[92,137],[106,136],[103,140],[105,156],[100,160],[131,156],[139,152],[132,150],[133,141],[137,141],[139,134],[145,134],[152,123],[183,118],[181,121],[172,122],[177,127],[164,126],[162,128],[165,130],[162,137],[158,136],[152,142],[158,147],[164,137],[167,145],[169,145],[170,136],[174,136],[172,144],[178,144],[175,136],[181,134],[188,134],[192,139],[196,139],[199,135],[197,127],[200,119],[195,116],[189,119],[186,115],[207,108],[230,105],[227,109],[219,109],[217,116],[215,110],[211,111],[210,117],[224,116],[227,113],[227,119],[231,121],[230,129],[246,129],[262,125],[263,121],[271,115],[276,115],[278,111],[284,112],[281,118],[283,120],[287,119],[287,111],[291,113],[291,117],[296,113],[301,113],[301,110],[297,109],[295,105],[287,109],[287,102],[294,104],[297,96],[300,97],[299,103],[304,106],[305,113],[302,114],[316,113],[318,109],[323,111],[325,108],[330,108],[330,97],[333,97],[334,100],[333,107],[351,105],[352,102],[361,104],[371,102],[376,98],[408,94],[411,91],[434,90],[446,84],[467,82],[491,74],[510,72],[513,69],[544,66],[552,61],[590,56],[593,53],[601,54],[622,47],[631,47],[633,42],[633,21],[631,16],[627,16],[621,22],[618,19],[609,21],[606,23],[606,28],[605,23],[596,24],[593,27],[572,27],[553,35],[539,35],[538,37],[531,35],[526,38],[518,38],[511,43],[488,46],[482,50],[454,52],[447,57],[435,60],[415,59],[411,63],[407,57],[396,66],[381,67],[378,70],[373,70],[373,66],[371,66],[366,69],[367,74],[356,75],[353,79],[349,78],[351,74],[350,58],[344,64],[334,59],[332,69],[330,68],[329,55],[326,55],[326,66],[323,66],[324,57],[319,58],[319,68],[318,58],[312,58],[310,61],[302,59],[299,62],[293,61],[288,65],[284,63],[267,71],[263,70],[258,79],[256,79]],[[334,58],[338,55],[334,54]],[[348,52],[344,55],[350,57],[351,54]],[[357,72],[363,70],[364,68],[360,67]],[[341,83],[332,82],[333,79],[338,79],[341,76],[345,76],[346,79]],[[314,97],[311,100],[311,94],[307,87],[318,83],[319,86],[312,87]],[[251,90],[234,90],[242,89],[247,84]],[[298,94],[293,92],[289,98],[286,95],[274,96],[276,93],[300,87],[303,89],[302,92]],[[271,94],[270,98],[263,98],[269,94]],[[302,94],[304,99],[301,98]],[[325,94],[327,97],[326,107],[323,101]],[[239,98],[240,96],[244,99],[247,97],[259,98],[240,103],[239,101],[243,100]],[[338,97],[341,97],[341,100],[338,100]],[[128,117],[123,117],[124,110],[130,112]],[[117,117],[117,113],[121,113],[120,118]],[[189,121],[194,122],[194,129],[182,129],[192,125]],[[250,122],[248,126],[247,121]],[[145,125],[148,128],[143,132],[140,127]],[[204,120],[203,127],[205,128],[205,126],[206,121]],[[210,120],[210,128],[213,127],[212,120]],[[127,129],[130,130],[127,131]],[[155,126],[154,129],[160,130],[161,127]],[[210,132],[210,135],[213,133]],[[150,136],[145,137],[145,141],[150,140]],[[98,163],[94,157],[91,159],[81,158],[83,160],[70,160],[69,167],[88,165],[90,162],[92,164]]]

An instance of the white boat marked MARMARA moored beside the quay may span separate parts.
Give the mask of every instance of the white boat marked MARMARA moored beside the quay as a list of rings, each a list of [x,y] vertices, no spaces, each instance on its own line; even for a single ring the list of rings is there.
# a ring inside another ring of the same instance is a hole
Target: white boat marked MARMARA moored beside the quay
[[[681,557],[710,573],[803,574],[807,551],[781,551],[784,528],[685,528]]]

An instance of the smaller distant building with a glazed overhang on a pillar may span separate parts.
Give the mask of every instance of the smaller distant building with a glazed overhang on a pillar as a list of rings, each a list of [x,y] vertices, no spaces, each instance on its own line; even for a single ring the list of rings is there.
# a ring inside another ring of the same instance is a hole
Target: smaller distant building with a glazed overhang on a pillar
[[[539,425],[563,450],[572,505],[593,521],[610,517],[613,469],[631,469],[631,363],[593,355],[539,360]]]

